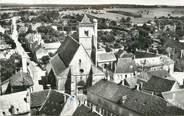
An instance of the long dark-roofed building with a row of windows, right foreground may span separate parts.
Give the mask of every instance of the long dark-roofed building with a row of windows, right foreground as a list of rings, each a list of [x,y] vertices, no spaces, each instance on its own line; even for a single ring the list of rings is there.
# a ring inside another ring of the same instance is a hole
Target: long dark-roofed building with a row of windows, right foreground
[[[183,115],[184,110],[166,100],[127,86],[101,80],[88,89],[88,106],[103,116]],[[159,104],[159,105],[158,105]]]

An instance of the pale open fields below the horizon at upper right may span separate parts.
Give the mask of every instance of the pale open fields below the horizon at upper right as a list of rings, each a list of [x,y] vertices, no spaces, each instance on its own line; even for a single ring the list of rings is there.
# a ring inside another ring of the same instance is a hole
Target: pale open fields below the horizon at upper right
[[[184,8],[113,8],[106,9],[106,11],[111,11],[111,16],[109,16],[109,18],[113,17],[115,14],[119,14],[120,17],[116,17],[117,19],[129,16],[134,23],[147,22],[148,20],[154,19],[154,17],[167,17],[168,15],[173,17],[184,16]],[[115,12],[112,13],[112,11]],[[107,15],[109,14],[107,13]],[[139,15],[142,17],[135,17]]]

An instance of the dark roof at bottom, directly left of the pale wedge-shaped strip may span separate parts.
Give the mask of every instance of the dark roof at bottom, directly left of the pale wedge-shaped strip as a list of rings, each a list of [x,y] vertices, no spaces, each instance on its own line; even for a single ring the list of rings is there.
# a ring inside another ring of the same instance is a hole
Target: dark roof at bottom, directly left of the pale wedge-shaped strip
[[[50,90],[44,105],[40,108],[40,112],[46,115],[59,116],[64,105],[64,94],[56,90]]]

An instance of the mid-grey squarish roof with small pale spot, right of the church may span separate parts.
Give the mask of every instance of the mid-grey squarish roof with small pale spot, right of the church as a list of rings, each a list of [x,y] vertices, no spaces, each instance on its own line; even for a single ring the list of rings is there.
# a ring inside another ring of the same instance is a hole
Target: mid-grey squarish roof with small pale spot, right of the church
[[[115,73],[133,73],[136,70],[135,61],[132,58],[119,58]]]

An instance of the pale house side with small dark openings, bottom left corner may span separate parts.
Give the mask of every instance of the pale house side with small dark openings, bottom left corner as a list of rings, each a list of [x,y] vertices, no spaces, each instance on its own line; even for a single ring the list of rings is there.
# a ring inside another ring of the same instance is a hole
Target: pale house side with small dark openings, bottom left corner
[[[30,116],[30,93],[22,91],[0,96],[0,116]]]

